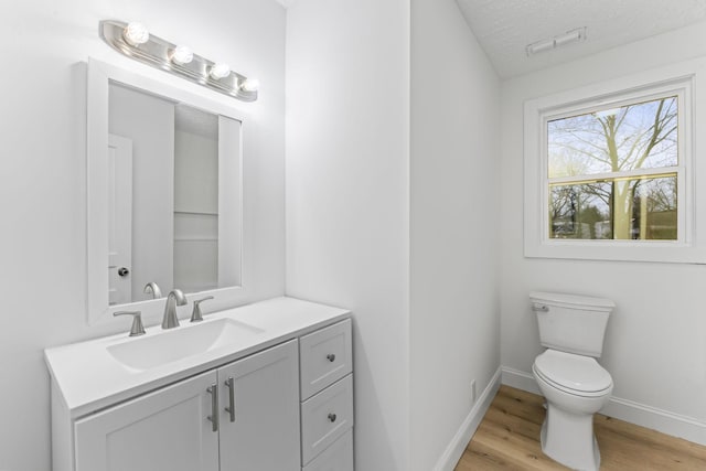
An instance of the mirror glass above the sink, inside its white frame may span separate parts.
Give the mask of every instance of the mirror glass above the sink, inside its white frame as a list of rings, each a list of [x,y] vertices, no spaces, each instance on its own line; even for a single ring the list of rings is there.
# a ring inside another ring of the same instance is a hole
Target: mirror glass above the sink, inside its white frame
[[[240,121],[108,88],[108,303],[240,286]]]

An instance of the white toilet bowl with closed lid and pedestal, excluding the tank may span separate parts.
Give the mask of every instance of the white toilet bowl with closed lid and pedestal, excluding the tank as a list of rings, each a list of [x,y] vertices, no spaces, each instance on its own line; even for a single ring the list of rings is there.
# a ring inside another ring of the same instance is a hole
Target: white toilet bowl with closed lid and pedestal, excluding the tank
[[[532,373],[547,399],[542,451],[571,469],[598,470],[593,414],[610,400],[610,374],[591,357],[554,350],[537,356]]]

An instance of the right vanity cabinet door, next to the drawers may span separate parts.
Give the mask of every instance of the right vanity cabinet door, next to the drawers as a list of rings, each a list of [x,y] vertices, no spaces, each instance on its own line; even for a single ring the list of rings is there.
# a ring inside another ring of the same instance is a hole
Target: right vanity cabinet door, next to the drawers
[[[299,470],[297,341],[218,368],[218,383],[221,471]]]

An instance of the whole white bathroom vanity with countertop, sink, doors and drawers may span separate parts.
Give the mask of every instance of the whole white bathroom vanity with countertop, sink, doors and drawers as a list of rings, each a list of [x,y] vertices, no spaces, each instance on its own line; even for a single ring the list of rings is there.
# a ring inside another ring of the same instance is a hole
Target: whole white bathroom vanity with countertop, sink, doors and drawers
[[[45,360],[54,471],[353,470],[346,310],[282,297]]]

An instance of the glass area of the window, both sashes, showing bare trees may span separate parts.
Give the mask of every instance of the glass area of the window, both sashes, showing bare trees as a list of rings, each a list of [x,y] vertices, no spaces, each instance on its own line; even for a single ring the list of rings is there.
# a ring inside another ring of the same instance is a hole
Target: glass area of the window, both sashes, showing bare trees
[[[547,122],[550,237],[677,239],[677,104]]]

